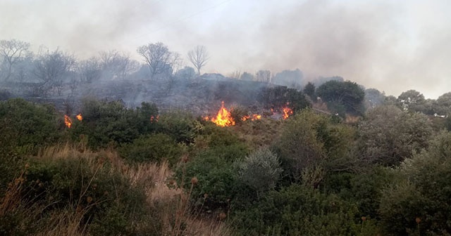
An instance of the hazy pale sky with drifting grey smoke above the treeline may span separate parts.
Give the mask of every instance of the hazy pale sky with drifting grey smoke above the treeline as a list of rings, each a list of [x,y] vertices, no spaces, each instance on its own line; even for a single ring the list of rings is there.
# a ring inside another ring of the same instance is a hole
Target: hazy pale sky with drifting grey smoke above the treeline
[[[0,0],[0,39],[138,60],[144,44],[183,58],[204,45],[204,72],[299,68],[394,96],[451,91],[450,0]]]

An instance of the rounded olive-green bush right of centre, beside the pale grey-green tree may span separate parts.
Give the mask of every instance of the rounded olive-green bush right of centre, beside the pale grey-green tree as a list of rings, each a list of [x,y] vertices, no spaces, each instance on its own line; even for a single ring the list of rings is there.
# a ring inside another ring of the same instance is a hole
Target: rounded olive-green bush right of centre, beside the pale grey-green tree
[[[353,168],[354,159],[349,155],[353,139],[350,127],[332,124],[328,117],[304,110],[283,126],[275,147],[291,178],[316,186],[328,171]]]

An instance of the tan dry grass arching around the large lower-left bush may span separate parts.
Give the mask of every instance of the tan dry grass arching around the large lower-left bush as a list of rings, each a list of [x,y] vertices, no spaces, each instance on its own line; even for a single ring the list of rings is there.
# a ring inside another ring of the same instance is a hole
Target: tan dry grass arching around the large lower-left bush
[[[45,161],[56,161],[67,158],[86,159],[89,168],[97,171],[104,162],[111,163],[114,171],[119,171],[126,176],[130,183],[144,189],[147,195],[147,203],[150,209],[159,214],[159,224],[163,225],[161,235],[230,235],[230,230],[224,223],[213,219],[199,218],[197,214],[192,214],[189,206],[190,191],[185,192],[181,188],[168,188],[168,179],[172,172],[167,162],[161,164],[145,163],[130,166],[123,162],[118,153],[114,150],[100,150],[93,152],[80,145],[69,144],[47,147],[39,151],[35,159]],[[25,206],[20,199],[23,190],[24,173],[18,176],[9,185],[8,191],[3,199],[0,199],[0,218],[5,214],[16,212],[23,216],[20,224],[35,223],[43,225],[39,214],[47,207],[43,204],[33,204]],[[89,183],[85,183],[89,186]],[[82,196],[83,193],[80,193]],[[53,211],[51,216],[44,223],[44,228],[34,235],[89,235],[88,225],[82,223],[82,218],[89,210],[90,206],[80,208],[73,206],[66,209]],[[20,228],[20,225],[17,225]]]

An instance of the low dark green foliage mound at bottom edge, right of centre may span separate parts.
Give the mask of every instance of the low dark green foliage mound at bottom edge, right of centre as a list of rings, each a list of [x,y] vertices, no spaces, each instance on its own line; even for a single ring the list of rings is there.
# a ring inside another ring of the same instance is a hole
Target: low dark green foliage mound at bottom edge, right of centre
[[[247,210],[237,211],[235,222],[242,235],[352,235],[352,204],[336,195],[292,184],[268,192],[261,202]]]

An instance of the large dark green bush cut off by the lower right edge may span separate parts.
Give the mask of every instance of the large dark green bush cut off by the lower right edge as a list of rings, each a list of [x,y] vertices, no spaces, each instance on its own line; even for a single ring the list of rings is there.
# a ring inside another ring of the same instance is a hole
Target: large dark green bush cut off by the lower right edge
[[[451,133],[394,169],[383,190],[381,217],[388,235],[451,235]]]

